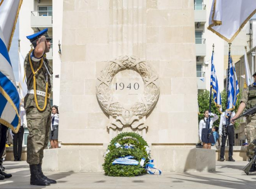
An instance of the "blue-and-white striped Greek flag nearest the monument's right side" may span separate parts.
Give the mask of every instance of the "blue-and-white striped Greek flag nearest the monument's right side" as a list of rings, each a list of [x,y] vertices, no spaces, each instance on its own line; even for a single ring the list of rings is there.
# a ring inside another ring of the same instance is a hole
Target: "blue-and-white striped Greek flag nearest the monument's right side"
[[[214,68],[213,54],[211,55],[211,90],[213,91],[214,104],[218,108],[218,111],[222,113],[220,88],[218,85],[217,75]]]

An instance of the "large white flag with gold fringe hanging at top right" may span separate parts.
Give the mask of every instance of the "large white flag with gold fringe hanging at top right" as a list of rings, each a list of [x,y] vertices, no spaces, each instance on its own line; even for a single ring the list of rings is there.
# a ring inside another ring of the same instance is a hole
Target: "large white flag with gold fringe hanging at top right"
[[[208,29],[232,42],[255,13],[255,0],[213,0]]]

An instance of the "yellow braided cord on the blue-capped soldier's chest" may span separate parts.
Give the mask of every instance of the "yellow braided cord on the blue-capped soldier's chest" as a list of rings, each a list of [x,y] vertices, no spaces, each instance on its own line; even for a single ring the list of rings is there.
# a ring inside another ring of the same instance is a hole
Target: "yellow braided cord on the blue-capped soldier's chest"
[[[43,65],[43,58],[41,59],[41,63],[39,65],[39,68],[34,71],[34,68],[33,68],[33,65],[32,65],[32,62],[31,62],[31,58],[30,58],[30,54],[31,52],[33,51],[33,49],[31,49],[29,51],[29,64],[30,64],[30,67],[31,67],[31,70],[33,72],[33,89],[34,89],[34,97],[35,97],[35,102],[36,102],[36,108],[37,110],[39,111],[44,111],[45,108],[46,108],[46,105],[47,105],[47,91],[48,91],[48,82],[46,82],[46,87],[45,87],[45,105],[43,106],[43,108],[40,108],[39,105],[38,105],[38,102],[37,102],[37,95],[36,95],[36,73],[42,68],[42,65]]]

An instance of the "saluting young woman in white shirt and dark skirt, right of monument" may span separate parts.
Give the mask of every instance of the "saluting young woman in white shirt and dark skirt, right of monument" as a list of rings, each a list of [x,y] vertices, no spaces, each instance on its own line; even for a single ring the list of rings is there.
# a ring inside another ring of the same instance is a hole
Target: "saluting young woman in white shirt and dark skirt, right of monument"
[[[216,114],[211,113],[210,116],[213,116],[213,118],[210,119],[210,125],[209,125],[209,111],[204,111],[204,118],[200,120],[199,122],[199,138],[203,142],[203,148],[211,149],[211,144],[214,143],[214,137],[211,133],[211,128],[213,127],[214,121],[219,119],[219,116]]]

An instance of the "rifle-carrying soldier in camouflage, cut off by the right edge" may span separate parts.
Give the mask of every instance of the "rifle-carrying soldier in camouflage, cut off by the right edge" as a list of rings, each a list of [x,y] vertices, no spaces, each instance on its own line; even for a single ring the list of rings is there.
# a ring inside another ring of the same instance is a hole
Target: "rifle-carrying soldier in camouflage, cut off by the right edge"
[[[231,118],[231,123],[234,124],[235,121],[232,121],[233,119],[237,118],[243,110],[250,109],[254,106],[256,106],[256,72],[253,73],[254,83],[247,87],[247,90],[244,90],[243,96],[241,99],[241,103],[237,109],[236,115]],[[244,134],[247,138],[247,141],[249,143],[247,147],[247,156],[251,159],[253,157],[253,149],[255,148],[256,140],[255,140],[255,128],[256,128],[256,114],[252,114],[250,116],[246,117],[246,126],[244,128]],[[255,163],[253,163],[250,171],[256,171]]]

